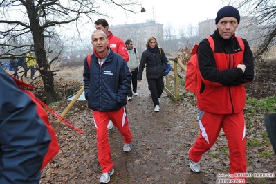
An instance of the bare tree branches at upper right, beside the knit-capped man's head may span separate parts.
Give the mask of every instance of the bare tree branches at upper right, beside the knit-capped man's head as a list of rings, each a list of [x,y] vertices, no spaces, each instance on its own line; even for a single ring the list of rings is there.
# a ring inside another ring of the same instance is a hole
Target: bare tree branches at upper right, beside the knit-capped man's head
[[[246,15],[254,16],[257,19],[254,22],[259,34],[255,35],[255,39],[259,43],[259,48],[255,52],[255,57],[261,57],[270,48],[276,46],[275,0],[229,0],[229,3],[237,5],[241,12],[245,12]]]

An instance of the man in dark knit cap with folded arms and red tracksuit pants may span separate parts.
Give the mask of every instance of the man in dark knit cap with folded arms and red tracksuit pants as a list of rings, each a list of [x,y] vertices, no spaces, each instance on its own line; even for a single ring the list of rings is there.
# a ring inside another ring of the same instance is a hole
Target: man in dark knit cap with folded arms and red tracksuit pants
[[[217,30],[211,35],[214,53],[208,39],[197,50],[199,75],[196,99],[200,135],[189,150],[190,169],[200,172],[199,161],[219,136],[226,134],[229,148],[229,170],[237,183],[246,183],[239,173],[246,173],[246,123],[243,108],[246,103],[244,85],[254,78],[253,55],[246,39],[241,49],[235,30],[239,26],[239,11],[225,6],[217,12]],[[237,175],[234,175],[237,174]]]

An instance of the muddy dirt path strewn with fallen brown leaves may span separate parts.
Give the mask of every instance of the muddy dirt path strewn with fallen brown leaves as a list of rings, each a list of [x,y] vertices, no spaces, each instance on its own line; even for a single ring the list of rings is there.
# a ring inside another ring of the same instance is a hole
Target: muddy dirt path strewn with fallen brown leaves
[[[199,134],[192,98],[187,96],[173,102],[164,91],[160,112],[155,113],[147,82],[138,82],[138,96],[127,104],[133,134],[133,148],[129,154],[122,151],[123,141],[118,130],[109,131],[115,169],[110,183],[216,183],[218,173],[228,173],[228,154],[223,151],[227,142],[223,132],[201,159],[202,172],[190,172],[187,152]],[[63,102],[55,109],[61,113],[67,104]],[[66,117],[84,134],[53,123],[61,151],[42,172],[40,183],[98,183],[101,169],[91,111],[86,102],[77,102]],[[254,158],[248,160],[251,163]],[[266,161],[255,167],[249,165],[248,172],[275,173],[275,158]],[[276,183],[276,180],[265,178],[261,182]]]

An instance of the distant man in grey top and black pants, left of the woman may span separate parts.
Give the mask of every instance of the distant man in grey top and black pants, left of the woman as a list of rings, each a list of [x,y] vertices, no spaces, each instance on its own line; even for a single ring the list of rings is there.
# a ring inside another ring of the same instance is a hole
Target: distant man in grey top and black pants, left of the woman
[[[138,66],[139,66],[139,53],[136,48],[134,48],[134,43],[131,39],[127,39],[125,42],[127,46],[127,53],[129,53],[129,62],[127,62],[127,66],[131,71],[131,82],[132,82],[132,90],[129,90],[129,94],[127,95],[127,100],[132,100],[132,95],[137,96],[137,75],[138,75]],[[133,93],[132,93],[133,91]]]

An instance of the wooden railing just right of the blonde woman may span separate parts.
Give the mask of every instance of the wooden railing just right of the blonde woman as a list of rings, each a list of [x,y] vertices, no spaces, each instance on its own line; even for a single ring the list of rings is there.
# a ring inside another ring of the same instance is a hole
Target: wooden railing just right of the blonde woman
[[[166,76],[166,83],[164,85],[165,91],[174,99],[174,101],[178,100],[178,78],[183,78],[181,75],[178,74],[177,66],[181,67],[184,71],[187,71],[186,66],[177,58],[168,58],[169,61],[173,62],[172,64],[172,70],[169,72],[169,74]],[[174,91],[172,92],[169,90],[169,80],[174,81]]]

